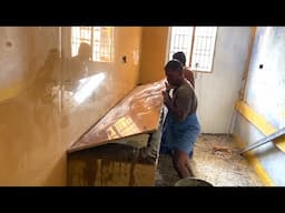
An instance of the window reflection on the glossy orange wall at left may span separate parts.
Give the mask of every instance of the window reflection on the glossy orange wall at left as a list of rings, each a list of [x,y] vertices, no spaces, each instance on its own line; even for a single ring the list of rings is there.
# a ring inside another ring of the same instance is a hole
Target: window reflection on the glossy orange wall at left
[[[92,47],[92,61],[112,61],[114,27],[72,27],[71,57],[77,55],[81,42]]]

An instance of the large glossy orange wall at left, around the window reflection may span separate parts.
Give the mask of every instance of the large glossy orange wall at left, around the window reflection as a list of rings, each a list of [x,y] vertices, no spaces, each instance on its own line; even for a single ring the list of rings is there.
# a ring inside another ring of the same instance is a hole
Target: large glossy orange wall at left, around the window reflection
[[[0,28],[0,185],[66,185],[66,150],[137,84],[140,36],[115,28],[114,62],[88,64],[105,78],[77,103],[63,81],[70,28]]]

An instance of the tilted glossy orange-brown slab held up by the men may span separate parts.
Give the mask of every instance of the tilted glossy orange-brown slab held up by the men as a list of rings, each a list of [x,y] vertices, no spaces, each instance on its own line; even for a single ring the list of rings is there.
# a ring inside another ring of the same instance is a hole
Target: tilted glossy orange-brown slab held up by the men
[[[164,104],[161,95],[164,87],[164,81],[137,87],[72,144],[68,153],[156,131]]]

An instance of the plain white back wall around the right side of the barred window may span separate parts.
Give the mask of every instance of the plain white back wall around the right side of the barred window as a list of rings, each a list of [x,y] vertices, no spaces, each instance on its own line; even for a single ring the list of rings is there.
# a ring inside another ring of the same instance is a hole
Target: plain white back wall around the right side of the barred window
[[[250,27],[218,27],[212,73],[197,72],[196,93],[203,133],[228,133],[242,88]]]

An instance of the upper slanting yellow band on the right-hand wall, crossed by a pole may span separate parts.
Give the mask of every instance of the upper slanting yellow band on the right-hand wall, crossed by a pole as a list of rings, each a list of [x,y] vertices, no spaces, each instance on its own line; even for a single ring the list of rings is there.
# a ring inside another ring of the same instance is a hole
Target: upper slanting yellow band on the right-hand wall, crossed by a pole
[[[245,102],[238,101],[236,110],[266,136],[277,131],[262,114],[255,112]],[[281,151],[285,152],[285,140],[283,138],[273,140],[273,142]]]

